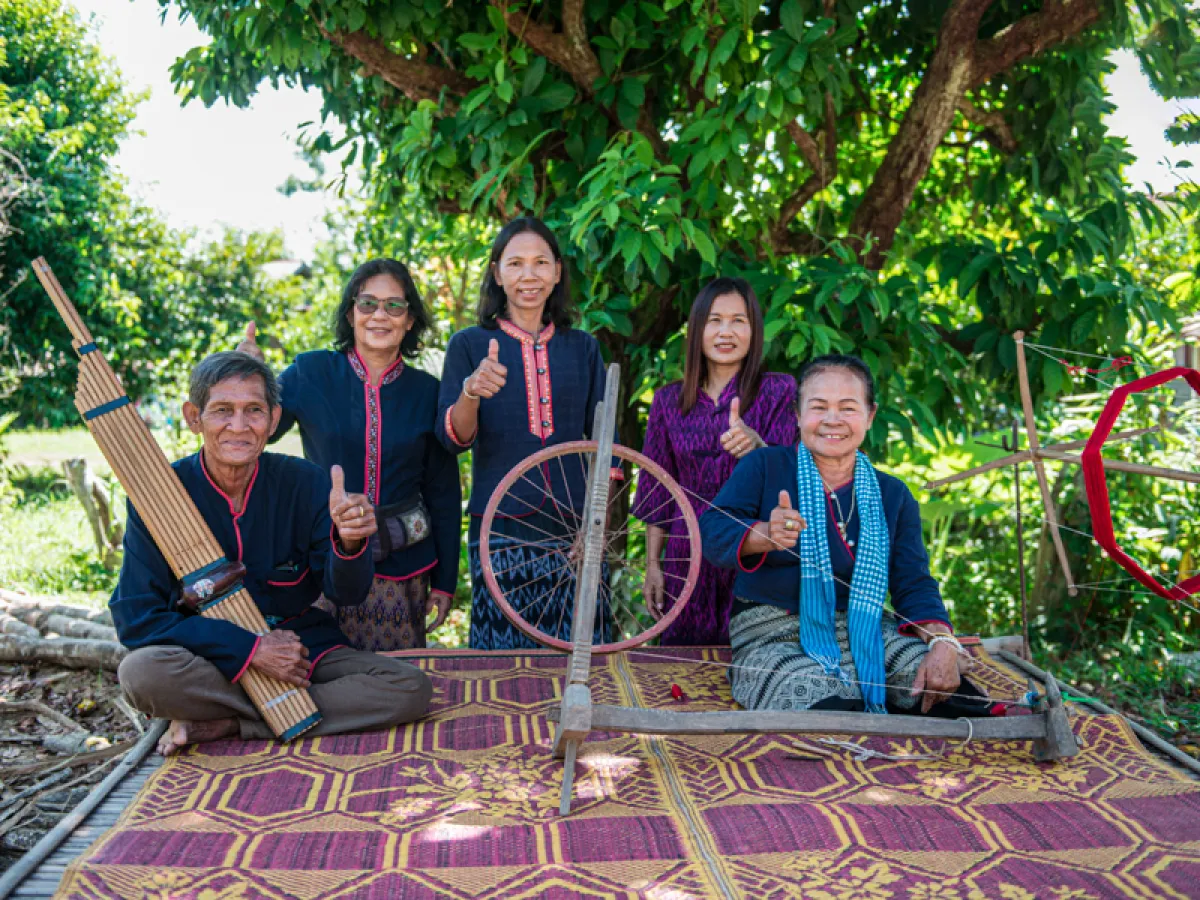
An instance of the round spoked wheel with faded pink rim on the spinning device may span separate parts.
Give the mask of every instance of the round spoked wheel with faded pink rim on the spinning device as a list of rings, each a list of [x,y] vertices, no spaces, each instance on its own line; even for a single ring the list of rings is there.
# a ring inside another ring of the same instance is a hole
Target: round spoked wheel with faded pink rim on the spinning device
[[[571,649],[571,618],[583,548],[583,503],[596,444],[578,440],[524,460],[497,486],[480,527],[484,581],[504,614],[539,643]],[[700,575],[700,526],[683,490],[659,466],[614,445],[624,481],[610,488],[594,653],[637,647],[679,616]],[[644,595],[648,526],[630,512],[635,491],[650,486],[655,504],[638,510],[664,530],[664,606],[655,622]],[[658,509],[655,509],[658,506]],[[600,624],[608,625],[605,634]]]

